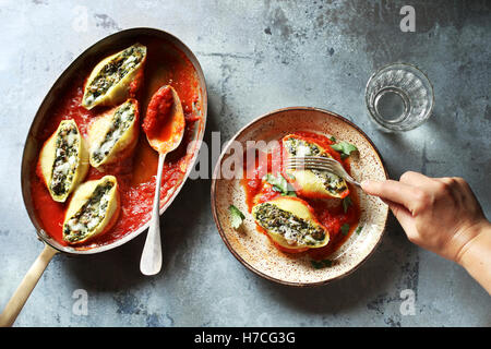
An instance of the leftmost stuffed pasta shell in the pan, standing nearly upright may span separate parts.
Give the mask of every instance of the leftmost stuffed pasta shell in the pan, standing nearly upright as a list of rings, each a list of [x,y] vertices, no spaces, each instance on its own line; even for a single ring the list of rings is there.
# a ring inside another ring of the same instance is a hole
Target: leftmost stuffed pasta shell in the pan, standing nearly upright
[[[88,170],[88,152],[75,121],[61,121],[57,131],[45,142],[38,169],[56,202],[64,202],[83,181]]]

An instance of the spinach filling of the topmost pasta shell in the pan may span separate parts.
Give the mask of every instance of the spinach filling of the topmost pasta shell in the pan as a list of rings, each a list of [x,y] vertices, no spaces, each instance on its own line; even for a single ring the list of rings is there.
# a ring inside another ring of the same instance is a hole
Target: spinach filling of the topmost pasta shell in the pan
[[[131,46],[115,57],[99,71],[91,82],[87,89],[87,100],[94,101],[104,95],[110,87],[119,83],[144,58],[145,49],[142,46]]]

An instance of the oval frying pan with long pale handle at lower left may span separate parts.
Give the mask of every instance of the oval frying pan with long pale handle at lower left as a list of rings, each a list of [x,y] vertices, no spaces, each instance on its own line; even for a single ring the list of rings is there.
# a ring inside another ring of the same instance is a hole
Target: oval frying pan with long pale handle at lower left
[[[115,249],[117,246],[127,243],[128,241],[137,237],[141,232],[148,228],[149,221],[146,221],[139,229],[125,233],[122,238],[111,241],[110,243],[94,246],[86,250],[77,250],[72,246],[64,246],[58,243],[55,239],[52,239],[41,227],[36,217],[33,198],[31,196],[31,179],[32,171],[35,170],[35,164],[37,161],[37,157],[39,155],[39,149],[43,145],[43,142],[37,136],[41,128],[44,125],[44,121],[49,118],[50,107],[56,101],[57,96],[59,96],[60,92],[63,91],[65,86],[70,83],[70,81],[75,76],[76,72],[87,67],[87,64],[92,64],[94,67],[94,62],[97,62],[101,58],[108,56],[103,55],[104,52],[116,52],[125,46],[130,46],[137,41],[141,38],[154,38],[157,40],[161,40],[163,45],[168,45],[169,47],[173,47],[178,51],[182,52],[188,60],[192,63],[195,71],[195,79],[199,83],[199,103],[201,104],[201,108],[199,112],[201,113],[201,118],[199,122],[194,123],[194,129],[192,132],[192,144],[193,147],[188,149],[188,154],[190,156],[188,161],[188,169],[184,173],[184,177],[181,183],[173,189],[170,196],[166,197],[165,205],[160,208],[160,215],[167,209],[167,207],[172,203],[173,198],[177,196],[182,185],[184,184],[187,178],[197,157],[199,146],[201,145],[201,141],[203,140],[204,129],[206,124],[206,111],[207,111],[207,93],[206,93],[206,83],[204,79],[203,71],[201,65],[193,55],[193,52],[177,37],[159,31],[155,28],[132,28],[122,31],[116,34],[112,34],[98,43],[94,44],[92,47],[86,49],[82,55],[80,55],[69,68],[64,70],[64,72],[60,75],[60,77],[55,82],[51,89],[48,92],[47,96],[43,100],[39,109],[37,110],[36,116],[31,124],[29,132],[27,134],[27,139],[24,145],[24,153],[22,158],[22,170],[21,170],[21,184],[22,184],[22,195],[24,198],[24,205],[27,209],[27,214],[36,228],[36,232],[38,239],[44,243],[44,249],[37,260],[28,269],[24,279],[21,281],[21,285],[15,290],[14,294],[7,303],[3,312],[0,314],[0,326],[11,326],[19,313],[21,312],[24,303],[36,286],[39,277],[43,275],[45,268],[51,261],[52,256],[57,253],[65,253],[72,255],[81,255],[81,254],[94,254],[100,253],[104,251],[108,251]],[[170,45],[169,45],[170,44]]]

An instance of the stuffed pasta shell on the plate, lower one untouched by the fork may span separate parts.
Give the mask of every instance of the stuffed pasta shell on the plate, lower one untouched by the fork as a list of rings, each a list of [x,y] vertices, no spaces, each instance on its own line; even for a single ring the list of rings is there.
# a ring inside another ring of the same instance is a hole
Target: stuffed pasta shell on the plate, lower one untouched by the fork
[[[282,196],[252,207],[255,222],[280,246],[315,249],[326,245],[330,232],[310,206],[298,197]]]

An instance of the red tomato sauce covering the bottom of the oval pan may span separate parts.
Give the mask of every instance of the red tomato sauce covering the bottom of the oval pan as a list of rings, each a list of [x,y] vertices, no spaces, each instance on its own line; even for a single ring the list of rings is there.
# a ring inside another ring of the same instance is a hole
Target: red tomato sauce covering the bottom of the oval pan
[[[188,145],[193,141],[196,122],[201,119],[200,85],[194,67],[176,47],[152,38],[142,38],[141,44],[147,47],[147,61],[144,74],[139,76],[136,98],[140,103],[141,115],[145,115],[151,96],[163,85],[171,85],[178,93],[184,111],[184,136],[179,147],[169,153],[164,165],[160,206],[165,205],[164,197],[169,197],[172,191],[182,182],[188,170]],[[106,56],[109,56],[110,52]],[[103,57],[104,58],[104,57]],[[87,67],[80,72],[70,86],[60,94],[52,106],[51,117],[44,124],[43,131],[36,136],[45,142],[58,128],[61,120],[73,119],[83,137],[87,137],[91,122],[107,108],[86,110],[81,106],[83,87],[86,76],[94,67]],[[132,89],[135,86],[132,85]],[[153,196],[155,193],[155,174],[157,172],[158,154],[149,146],[143,130],[140,132],[139,143],[132,157],[111,165],[106,172],[99,172],[91,167],[85,181],[99,179],[105,174],[112,174],[118,180],[121,210],[116,225],[103,236],[87,241],[77,249],[91,249],[111,243],[125,234],[139,229],[151,218]],[[36,165],[34,165],[36,166]],[[44,230],[62,245],[62,225],[69,205],[52,201],[45,183],[32,171],[32,197],[38,221]],[[168,195],[168,196],[167,196]]]

